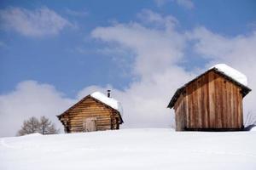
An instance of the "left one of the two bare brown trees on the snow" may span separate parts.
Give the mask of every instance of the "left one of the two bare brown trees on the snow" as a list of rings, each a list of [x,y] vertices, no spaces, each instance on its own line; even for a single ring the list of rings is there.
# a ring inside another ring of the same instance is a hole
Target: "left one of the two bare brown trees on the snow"
[[[22,136],[30,133],[39,132],[39,122],[38,119],[34,116],[23,122],[21,129],[18,131],[17,135]]]

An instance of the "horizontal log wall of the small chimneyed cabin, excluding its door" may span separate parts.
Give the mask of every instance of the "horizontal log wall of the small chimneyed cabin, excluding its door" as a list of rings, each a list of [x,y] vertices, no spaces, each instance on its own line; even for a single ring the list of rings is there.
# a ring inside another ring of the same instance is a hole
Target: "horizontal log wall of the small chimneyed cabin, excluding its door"
[[[118,113],[91,98],[85,99],[61,116],[61,122],[67,133],[83,132],[83,122],[90,117],[96,117],[96,130],[119,128]]]

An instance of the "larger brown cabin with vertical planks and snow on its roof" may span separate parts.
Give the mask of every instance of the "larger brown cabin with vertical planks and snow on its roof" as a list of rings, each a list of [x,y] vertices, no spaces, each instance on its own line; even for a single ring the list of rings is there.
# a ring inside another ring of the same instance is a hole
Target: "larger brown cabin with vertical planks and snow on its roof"
[[[176,131],[242,130],[242,99],[250,91],[245,75],[218,64],[178,88],[167,107],[174,109]]]

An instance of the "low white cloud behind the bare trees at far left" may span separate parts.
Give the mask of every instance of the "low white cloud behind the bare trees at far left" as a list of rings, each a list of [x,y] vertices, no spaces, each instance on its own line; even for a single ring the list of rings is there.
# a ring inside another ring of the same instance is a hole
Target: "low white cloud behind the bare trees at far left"
[[[74,101],[49,84],[20,82],[13,92],[0,95],[0,136],[14,136],[30,116],[48,116],[57,127],[62,127],[56,115]]]

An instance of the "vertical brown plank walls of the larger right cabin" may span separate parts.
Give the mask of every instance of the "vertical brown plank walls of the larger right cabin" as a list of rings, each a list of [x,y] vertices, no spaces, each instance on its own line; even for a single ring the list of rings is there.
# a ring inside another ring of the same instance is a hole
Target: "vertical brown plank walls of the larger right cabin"
[[[177,99],[174,110],[177,131],[243,126],[241,88],[215,71],[191,82]]]

